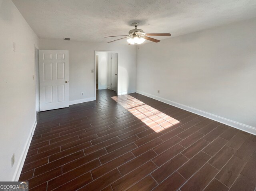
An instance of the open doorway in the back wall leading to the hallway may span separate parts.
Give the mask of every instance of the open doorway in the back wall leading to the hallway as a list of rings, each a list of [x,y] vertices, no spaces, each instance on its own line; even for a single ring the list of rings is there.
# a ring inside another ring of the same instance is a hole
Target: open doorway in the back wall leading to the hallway
[[[118,51],[95,51],[96,90],[109,89],[118,92]]]

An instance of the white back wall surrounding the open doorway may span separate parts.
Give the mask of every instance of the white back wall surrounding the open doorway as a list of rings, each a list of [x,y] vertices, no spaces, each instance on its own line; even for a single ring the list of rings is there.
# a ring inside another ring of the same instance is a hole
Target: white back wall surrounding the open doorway
[[[117,43],[75,42],[40,39],[40,49],[69,50],[69,99],[90,100],[94,95],[94,57],[95,50],[120,51],[118,62],[118,92],[126,94],[136,90],[136,46]],[[81,96],[84,92],[84,96]]]

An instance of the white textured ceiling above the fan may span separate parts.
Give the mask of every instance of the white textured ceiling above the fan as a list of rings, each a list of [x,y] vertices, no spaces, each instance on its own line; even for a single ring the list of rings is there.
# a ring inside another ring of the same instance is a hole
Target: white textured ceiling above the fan
[[[128,34],[134,21],[144,32],[179,36],[256,17],[256,0],[12,1],[39,38],[76,41],[115,40],[103,37]]]

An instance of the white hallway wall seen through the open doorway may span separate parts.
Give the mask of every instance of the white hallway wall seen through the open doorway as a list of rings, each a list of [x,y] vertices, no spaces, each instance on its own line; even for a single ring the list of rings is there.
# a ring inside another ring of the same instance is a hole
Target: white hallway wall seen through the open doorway
[[[108,53],[98,52],[98,89],[108,88]]]

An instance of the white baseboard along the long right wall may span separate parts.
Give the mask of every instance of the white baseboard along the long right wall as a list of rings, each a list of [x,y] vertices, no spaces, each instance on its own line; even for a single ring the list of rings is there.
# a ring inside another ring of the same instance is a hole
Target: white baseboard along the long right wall
[[[190,111],[192,113],[196,113],[198,115],[201,115],[201,116],[204,116],[204,117],[207,117],[209,119],[212,119],[214,121],[218,121],[220,123],[223,123],[223,124],[226,124],[226,125],[229,125],[231,127],[234,127],[236,129],[240,129],[242,131],[246,131],[247,133],[251,133],[251,134],[254,134],[256,135],[256,127],[252,127],[250,125],[246,125],[246,124],[243,124],[243,123],[239,123],[237,121],[233,121],[231,119],[226,119],[224,117],[220,117],[218,115],[214,115],[212,113],[208,113],[206,111],[202,111],[200,109],[196,109],[194,107],[190,107],[190,106],[187,106],[187,105],[183,105],[183,104],[180,104],[180,103],[177,103],[175,101],[170,101],[168,99],[165,99],[165,98],[162,98],[162,97],[158,97],[158,96],[154,96],[152,94],[148,94],[146,92],[142,92],[142,91],[139,91],[137,90],[136,91],[138,94],[142,94],[144,96],[147,96],[147,97],[151,97],[153,99],[156,99],[158,101],[162,101],[164,103],[167,103],[169,105],[173,105],[175,107],[179,107],[180,109],[184,109],[186,111]]]

